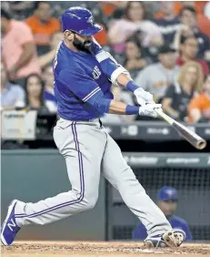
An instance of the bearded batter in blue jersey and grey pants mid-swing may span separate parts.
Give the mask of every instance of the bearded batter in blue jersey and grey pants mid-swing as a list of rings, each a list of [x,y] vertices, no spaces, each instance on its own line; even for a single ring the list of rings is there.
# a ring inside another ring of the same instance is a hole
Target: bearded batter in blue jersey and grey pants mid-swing
[[[17,231],[25,225],[44,225],[94,208],[102,175],[145,225],[146,246],[179,246],[185,232],[172,229],[100,121],[105,113],[156,117],[155,108],[161,105],[137,87],[125,68],[97,44],[94,35],[102,27],[95,24],[89,10],[67,9],[62,15],[62,29],[64,40],[58,45],[54,62],[59,116],[54,139],[65,158],[72,190],[35,203],[13,200],[2,227],[2,242],[12,244]],[[113,100],[112,84],[133,92],[141,106]]]

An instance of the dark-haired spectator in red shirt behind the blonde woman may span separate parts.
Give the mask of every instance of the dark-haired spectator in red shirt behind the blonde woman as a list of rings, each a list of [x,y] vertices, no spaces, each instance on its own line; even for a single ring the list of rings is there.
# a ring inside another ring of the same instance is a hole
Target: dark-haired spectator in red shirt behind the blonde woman
[[[182,36],[180,45],[180,57],[177,59],[177,65],[183,66],[185,62],[194,60],[199,63],[203,68],[204,75],[208,75],[209,68],[205,60],[197,59],[196,54],[198,51],[198,40],[195,36]]]

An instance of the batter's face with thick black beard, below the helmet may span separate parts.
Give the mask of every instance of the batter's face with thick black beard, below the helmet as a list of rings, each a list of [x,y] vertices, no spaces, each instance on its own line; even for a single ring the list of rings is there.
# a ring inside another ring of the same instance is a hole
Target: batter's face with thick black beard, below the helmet
[[[84,51],[86,53],[90,53],[90,46],[93,41],[92,36],[81,36],[78,34],[74,35],[73,45],[80,51]]]

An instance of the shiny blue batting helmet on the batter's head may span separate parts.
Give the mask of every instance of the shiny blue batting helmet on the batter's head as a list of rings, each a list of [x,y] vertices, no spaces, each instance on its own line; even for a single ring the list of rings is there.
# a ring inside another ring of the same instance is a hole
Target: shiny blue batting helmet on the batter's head
[[[95,24],[92,13],[83,7],[71,7],[62,15],[62,31],[70,30],[82,36],[92,36],[103,29]]]

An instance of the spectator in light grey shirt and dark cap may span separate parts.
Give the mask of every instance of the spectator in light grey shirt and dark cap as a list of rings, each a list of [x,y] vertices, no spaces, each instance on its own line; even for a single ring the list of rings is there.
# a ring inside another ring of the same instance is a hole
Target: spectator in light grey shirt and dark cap
[[[168,45],[159,50],[159,63],[145,67],[135,78],[135,83],[153,94],[155,101],[165,96],[165,90],[175,81],[179,67],[175,65],[175,49]]]

